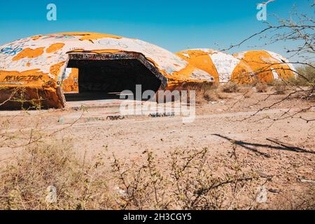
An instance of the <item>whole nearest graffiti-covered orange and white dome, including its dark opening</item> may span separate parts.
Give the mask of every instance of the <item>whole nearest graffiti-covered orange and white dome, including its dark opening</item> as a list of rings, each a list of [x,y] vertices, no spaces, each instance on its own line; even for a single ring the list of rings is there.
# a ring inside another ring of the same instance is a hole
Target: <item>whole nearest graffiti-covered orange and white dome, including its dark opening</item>
[[[214,82],[209,73],[139,39],[98,33],[59,33],[0,46],[0,104],[13,106],[15,90],[43,106],[62,108],[67,92],[175,89]],[[5,103],[5,104],[3,104]]]

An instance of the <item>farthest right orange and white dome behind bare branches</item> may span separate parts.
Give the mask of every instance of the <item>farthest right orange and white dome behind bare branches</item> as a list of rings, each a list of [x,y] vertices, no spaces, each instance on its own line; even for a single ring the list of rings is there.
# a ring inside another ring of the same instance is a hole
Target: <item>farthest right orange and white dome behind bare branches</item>
[[[252,74],[252,80],[270,83],[276,79],[288,80],[296,75],[295,67],[285,57],[267,50],[249,50],[234,55],[247,64]]]

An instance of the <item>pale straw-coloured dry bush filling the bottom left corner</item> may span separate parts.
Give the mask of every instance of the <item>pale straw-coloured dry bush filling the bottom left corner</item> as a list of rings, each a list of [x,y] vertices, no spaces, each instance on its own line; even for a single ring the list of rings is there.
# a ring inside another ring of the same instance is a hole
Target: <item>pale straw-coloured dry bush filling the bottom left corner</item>
[[[105,209],[106,181],[75,157],[68,142],[31,144],[3,167],[0,209]],[[46,200],[48,186],[57,189],[54,203]]]

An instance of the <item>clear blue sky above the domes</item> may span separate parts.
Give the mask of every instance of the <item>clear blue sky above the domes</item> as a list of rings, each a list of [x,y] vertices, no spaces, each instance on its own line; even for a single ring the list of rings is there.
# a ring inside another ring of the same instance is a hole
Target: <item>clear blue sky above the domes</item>
[[[0,1],[0,45],[18,38],[61,31],[95,31],[139,38],[177,52],[187,48],[228,47],[265,25],[256,19],[257,3],[264,0],[38,0]],[[46,20],[48,3],[57,5],[57,21]],[[295,5],[300,13],[314,15],[312,0],[276,0],[267,8],[288,18]],[[261,45],[257,39],[231,52]],[[286,56],[283,43],[263,47]]]

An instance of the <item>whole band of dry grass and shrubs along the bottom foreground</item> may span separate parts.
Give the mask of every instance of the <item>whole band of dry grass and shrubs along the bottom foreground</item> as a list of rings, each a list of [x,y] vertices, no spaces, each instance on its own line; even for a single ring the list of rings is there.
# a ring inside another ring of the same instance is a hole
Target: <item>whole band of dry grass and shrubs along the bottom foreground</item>
[[[92,165],[79,160],[69,141],[36,143],[0,170],[0,209],[248,209],[255,195],[248,186],[256,176],[232,165],[216,173],[208,149],[175,150],[168,167],[159,167],[150,151],[146,161],[128,163],[114,158],[104,169],[99,156]],[[46,200],[48,186],[56,202]],[[247,197],[242,197],[244,192]]]

